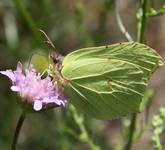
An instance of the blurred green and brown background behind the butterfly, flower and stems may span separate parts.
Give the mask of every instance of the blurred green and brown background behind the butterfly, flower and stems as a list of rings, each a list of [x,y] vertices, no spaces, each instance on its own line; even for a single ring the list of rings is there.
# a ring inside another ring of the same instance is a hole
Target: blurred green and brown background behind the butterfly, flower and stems
[[[137,37],[137,9],[140,0],[0,0],[0,70],[15,69],[16,63],[29,62],[33,55],[48,59],[50,49],[38,29],[44,30],[62,55],[88,47],[127,41],[121,33],[115,14],[115,3],[126,29],[133,40]],[[149,0],[148,7],[160,9],[164,0]],[[165,16],[147,20],[145,42],[165,56]],[[41,56],[41,55],[46,56]],[[160,68],[151,78],[150,88],[154,90],[152,105],[147,112],[138,116],[140,128],[144,116],[164,106],[165,68]],[[19,96],[10,91],[10,82],[0,76],[0,150],[10,149],[16,121],[21,112]],[[90,149],[80,137],[72,111],[49,110],[27,117],[18,142],[21,150],[84,150]],[[103,150],[120,149],[126,135],[123,124],[127,118],[113,121],[99,121],[87,116],[84,119],[91,139]],[[129,123],[129,122],[128,122]],[[127,126],[127,125],[125,125]],[[127,130],[127,128],[125,129]],[[162,138],[165,143],[165,138]],[[147,130],[133,145],[134,150],[152,150],[151,130]]]

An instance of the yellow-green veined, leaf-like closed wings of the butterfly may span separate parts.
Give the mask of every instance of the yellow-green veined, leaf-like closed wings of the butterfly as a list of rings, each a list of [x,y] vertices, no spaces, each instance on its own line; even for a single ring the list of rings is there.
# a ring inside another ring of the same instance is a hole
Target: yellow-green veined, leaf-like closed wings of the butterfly
[[[113,119],[139,112],[149,77],[162,64],[150,47],[128,42],[74,51],[64,58],[61,73],[78,110]]]

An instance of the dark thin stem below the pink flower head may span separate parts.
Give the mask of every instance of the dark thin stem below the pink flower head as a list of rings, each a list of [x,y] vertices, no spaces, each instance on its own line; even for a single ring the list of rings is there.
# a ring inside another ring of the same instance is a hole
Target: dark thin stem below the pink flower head
[[[12,146],[11,146],[11,150],[16,150],[16,145],[17,145],[17,141],[18,141],[18,137],[19,137],[19,133],[21,130],[21,127],[23,125],[23,122],[25,120],[25,112],[23,111],[19,117],[19,120],[17,122],[17,126],[15,129],[15,133],[14,133],[14,137],[13,137],[13,142],[12,142]]]

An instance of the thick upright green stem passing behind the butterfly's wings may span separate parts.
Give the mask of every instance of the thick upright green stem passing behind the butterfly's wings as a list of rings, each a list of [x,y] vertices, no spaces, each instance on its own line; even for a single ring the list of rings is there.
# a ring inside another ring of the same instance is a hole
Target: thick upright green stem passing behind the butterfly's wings
[[[144,42],[144,33],[146,29],[146,22],[147,22],[147,1],[148,0],[141,0],[141,11],[142,16],[140,19],[140,26],[138,28],[138,42],[143,43]],[[137,114],[132,114],[131,116],[131,124],[129,127],[129,133],[128,133],[128,142],[126,143],[124,150],[131,150],[132,144],[134,141],[134,133],[136,130],[136,120],[137,120]]]

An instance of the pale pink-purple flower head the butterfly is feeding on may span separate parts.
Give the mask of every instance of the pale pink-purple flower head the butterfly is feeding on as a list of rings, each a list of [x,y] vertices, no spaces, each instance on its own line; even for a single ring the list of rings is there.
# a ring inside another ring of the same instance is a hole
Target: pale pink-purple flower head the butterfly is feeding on
[[[23,72],[22,64],[18,62],[15,71],[0,71],[12,81],[11,90],[19,93],[23,101],[33,105],[39,111],[50,107],[65,106],[66,98],[57,82],[52,82],[50,77],[41,79],[41,75],[31,66]]]

